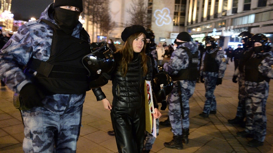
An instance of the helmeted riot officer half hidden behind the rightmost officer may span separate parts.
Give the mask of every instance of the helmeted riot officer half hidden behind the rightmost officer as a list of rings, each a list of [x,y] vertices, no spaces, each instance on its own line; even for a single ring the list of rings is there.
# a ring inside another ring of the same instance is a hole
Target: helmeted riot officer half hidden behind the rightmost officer
[[[238,107],[237,107],[237,113],[236,117],[233,119],[229,119],[228,123],[231,124],[240,124],[241,126],[245,126],[244,118],[245,118],[245,61],[250,58],[250,55],[252,54],[252,51],[250,49],[252,48],[252,42],[251,37],[253,36],[252,33],[248,31],[241,32],[239,37],[242,38],[241,42],[243,43],[243,54],[239,57],[239,65],[238,68],[235,69],[235,72],[233,74],[232,81],[234,83],[237,83],[237,77],[238,77],[238,85],[239,85],[239,94],[238,94]]]

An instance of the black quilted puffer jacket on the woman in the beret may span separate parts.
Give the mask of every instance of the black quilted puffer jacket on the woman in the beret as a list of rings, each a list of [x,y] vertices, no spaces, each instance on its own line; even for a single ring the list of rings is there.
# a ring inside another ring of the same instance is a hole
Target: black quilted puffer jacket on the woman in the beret
[[[121,63],[121,54],[114,54],[116,67],[112,75],[112,93],[113,106],[120,108],[140,108],[144,107],[144,83],[145,80],[152,82],[152,63],[147,57],[148,72],[145,76],[142,75],[141,57],[135,54],[131,63],[128,64],[128,71],[123,77],[118,73]],[[141,73],[139,73],[141,72]],[[156,100],[154,101],[155,108],[158,108]]]

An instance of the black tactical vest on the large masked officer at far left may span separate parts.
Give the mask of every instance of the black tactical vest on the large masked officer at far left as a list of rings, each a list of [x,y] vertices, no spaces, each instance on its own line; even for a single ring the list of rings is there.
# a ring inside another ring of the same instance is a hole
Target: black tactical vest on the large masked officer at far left
[[[82,58],[90,53],[89,35],[82,29],[80,39],[67,35],[46,20],[54,32],[50,57],[47,61],[33,59],[31,68],[37,71],[35,83],[46,94],[83,94],[88,87],[88,72]]]

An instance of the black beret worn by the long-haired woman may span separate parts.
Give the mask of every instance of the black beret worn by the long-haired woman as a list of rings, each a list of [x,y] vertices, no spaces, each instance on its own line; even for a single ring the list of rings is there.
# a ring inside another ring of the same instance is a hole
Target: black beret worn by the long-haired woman
[[[121,39],[126,42],[130,35],[133,35],[137,32],[143,32],[146,35],[146,38],[150,39],[150,35],[142,25],[132,25],[130,27],[126,27],[123,32],[121,32]]]

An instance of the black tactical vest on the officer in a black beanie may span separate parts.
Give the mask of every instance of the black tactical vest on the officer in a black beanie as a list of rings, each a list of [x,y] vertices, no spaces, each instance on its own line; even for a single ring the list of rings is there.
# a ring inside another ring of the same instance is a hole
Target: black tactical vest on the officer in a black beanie
[[[187,47],[179,47],[187,51],[189,56],[189,66],[186,69],[181,69],[177,75],[170,75],[172,80],[197,80],[199,78],[199,71],[198,71],[198,51],[195,54],[192,54],[191,51]]]

